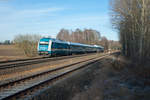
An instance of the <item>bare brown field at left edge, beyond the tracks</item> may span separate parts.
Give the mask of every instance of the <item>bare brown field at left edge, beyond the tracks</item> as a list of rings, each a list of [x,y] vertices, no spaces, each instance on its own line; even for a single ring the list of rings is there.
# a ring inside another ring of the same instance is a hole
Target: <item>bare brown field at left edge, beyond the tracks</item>
[[[0,45],[0,61],[27,58],[15,45]]]

